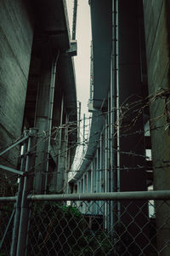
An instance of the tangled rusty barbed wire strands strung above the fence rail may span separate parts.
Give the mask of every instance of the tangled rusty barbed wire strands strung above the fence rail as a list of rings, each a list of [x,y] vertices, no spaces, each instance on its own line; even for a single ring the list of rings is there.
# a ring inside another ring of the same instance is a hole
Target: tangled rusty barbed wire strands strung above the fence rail
[[[141,129],[139,131],[133,131],[133,132],[127,132],[129,131],[130,129],[133,128],[133,126],[136,124],[136,122],[138,121],[139,119],[139,116],[143,113],[144,111],[144,108],[147,108],[149,107],[151,104],[153,104],[154,102],[156,102],[157,99],[163,99],[165,101],[165,104],[164,104],[164,109],[163,109],[163,113],[161,113],[159,116],[155,117],[155,118],[152,118],[152,119],[149,119],[150,120],[150,129],[148,129],[147,131],[154,131],[154,130],[158,130],[158,129],[162,129],[164,128],[165,130],[169,127],[169,120],[170,120],[170,111],[168,109],[168,104],[170,101],[168,101],[168,97],[170,96],[170,90],[168,89],[160,89],[160,90],[157,90],[156,91],[156,94],[152,94],[150,96],[147,96],[146,98],[141,98],[139,97],[139,100],[138,101],[135,101],[135,102],[130,102],[130,103],[127,103],[129,100],[131,100],[131,98],[133,96],[129,96],[127,98],[126,101],[122,102],[122,105],[120,106],[120,119],[119,119],[119,122],[121,125],[119,125],[119,128],[126,128],[127,127],[127,130],[123,130],[124,133],[121,134],[121,137],[129,137],[129,136],[133,136],[133,135],[136,135],[136,134],[139,134],[141,135],[141,137],[144,137],[144,134],[146,131],[142,131]],[[136,97],[136,96],[135,96]],[[89,119],[99,119],[101,115],[108,115],[109,113],[112,113],[116,110],[116,108],[113,108],[111,109],[110,111],[107,111],[107,112],[103,112],[103,113],[98,113],[96,116],[94,117],[86,117],[85,119],[86,120],[89,120]],[[129,118],[129,113],[131,113],[131,117],[132,119],[131,120],[128,120],[130,121],[129,124],[126,125],[122,125],[122,123],[125,121],[125,119]],[[132,113],[134,115],[132,115]],[[166,121],[167,121],[167,124],[166,126],[165,125],[159,125],[159,126],[156,126],[154,123],[156,123],[156,121],[158,119],[162,119],[162,118],[165,118]],[[80,120],[80,122],[82,122],[83,119]],[[95,121],[95,120],[94,120]],[[116,130],[117,128],[117,124],[116,124],[117,121],[115,121],[115,123],[113,124],[110,124],[110,125],[107,125],[107,127],[104,125],[103,128],[100,130],[100,131],[94,131],[94,133],[91,133],[90,137],[93,137],[94,135],[98,135],[98,134],[101,134],[102,132],[105,132],[105,129],[107,129],[109,126],[113,126]],[[76,127],[72,127],[73,125],[77,125],[77,121],[71,121],[71,122],[67,122],[66,124],[63,124],[63,125],[59,125],[59,126],[55,126],[51,129],[51,135],[49,136],[49,131],[42,131],[42,132],[39,132],[37,134],[37,138],[38,138],[38,141],[37,141],[37,144],[31,148],[31,153],[36,153],[36,148],[38,146],[38,144],[40,143],[45,143],[46,140],[48,140],[48,138],[50,137],[51,141],[54,141],[56,143],[59,142],[58,138],[59,137],[59,132],[62,130],[62,129],[68,129],[68,133],[71,134],[75,131],[77,131],[77,126]],[[88,127],[89,125],[85,125],[85,127]],[[128,129],[129,128],[129,129]],[[70,130],[69,130],[70,129]],[[111,129],[111,127],[109,128]],[[81,134],[82,135],[82,134]],[[108,137],[107,140],[113,140],[115,137],[117,136],[116,134],[116,131],[111,135],[111,137]],[[18,137],[14,143],[18,142],[22,137],[24,137],[24,133],[21,134],[20,137]],[[65,140],[61,140],[61,143],[65,142]],[[77,145],[84,145],[84,144],[87,144],[89,147],[94,147],[97,143],[100,142],[100,138],[98,140],[94,140],[94,142],[91,140],[90,142],[87,141],[87,138],[86,139],[82,139],[81,142],[77,142],[76,141],[72,141],[72,142],[69,142],[70,143],[70,146],[68,148],[65,148],[64,150],[60,150],[60,152],[58,152],[57,154],[54,154],[54,157],[59,157],[59,154],[60,155],[64,155],[66,152],[68,152],[69,150],[71,150],[72,148],[76,148]],[[12,146],[14,143],[10,143],[8,145],[8,147]],[[8,148],[6,147],[6,148]],[[34,150],[35,149],[35,150]],[[57,148],[56,151],[61,148]],[[107,150],[110,150],[108,148],[105,148]],[[149,157],[147,157],[146,155],[143,155],[143,154],[136,154],[135,152],[133,151],[129,151],[129,152],[126,152],[126,151],[122,151],[121,149],[120,150],[117,150],[116,148],[113,148],[113,151],[115,152],[119,152],[120,154],[127,154],[129,156],[132,156],[132,157],[142,157],[144,159],[149,159]],[[43,152],[43,151],[41,151]],[[18,158],[20,158],[22,154],[20,154],[19,156],[15,157],[13,160],[16,160]],[[50,156],[50,158],[48,159],[45,159],[43,160],[41,163],[38,163],[37,165],[34,165],[34,166],[31,166],[30,170],[28,171],[31,171],[32,169],[36,169],[37,166],[39,165],[42,165],[42,163],[46,163],[48,160],[52,160],[53,157]],[[11,162],[12,163],[12,162]],[[160,165],[160,166],[154,166],[154,168],[167,168],[169,167],[170,165]],[[129,167],[129,166],[125,166],[125,167],[119,167],[121,170],[130,170],[130,169],[141,169],[141,168],[144,168],[146,169],[147,166],[134,166],[134,167]],[[113,169],[116,169],[116,166],[113,168]],[[72,172],[71,170],[68,171],[66,170],[66,172]],[[77,171],[74,171],[74,172],[79,172],[78,170]],[[37,173],[37,172],[36,172]],[[35,174],[36,174],[35,173]],[[56,172],[41,172],[42,174],[48,174],[48,175],[52,175],[53,173],[56,174]],[[13,175],[11,177],[17,177],[18,175]],[[7,177],[7,179],[10,178],[10,177]]]

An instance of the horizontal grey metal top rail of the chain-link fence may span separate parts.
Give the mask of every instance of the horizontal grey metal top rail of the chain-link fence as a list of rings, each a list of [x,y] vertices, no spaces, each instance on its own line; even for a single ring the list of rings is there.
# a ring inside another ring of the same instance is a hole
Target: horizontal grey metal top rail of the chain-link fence
[[[16,196],[0,197],[0,203],[16,201]],[[29,201],[121,201],[121,200],[170,200],[170,190],[127,191],[109,193],[28,195]]]

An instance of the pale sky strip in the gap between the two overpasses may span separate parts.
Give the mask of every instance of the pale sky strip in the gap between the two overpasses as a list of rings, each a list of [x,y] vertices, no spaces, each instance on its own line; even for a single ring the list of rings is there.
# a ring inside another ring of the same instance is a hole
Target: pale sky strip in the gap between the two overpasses
[[[82,102],[82,114],[85,113],[87,116],[90,86],[90,7],[88,0],[78,0],[77,2],[77,56],[74,57],[77,79],[77,100]],[[67,0],[66,3],[71,28],[74,0]]]

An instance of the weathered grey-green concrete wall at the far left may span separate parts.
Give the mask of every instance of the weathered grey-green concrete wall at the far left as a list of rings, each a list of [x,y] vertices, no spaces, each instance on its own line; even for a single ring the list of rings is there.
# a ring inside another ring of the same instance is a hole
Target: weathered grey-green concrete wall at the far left
[[[32,38],[33,24],[26,1],[0,1],[1,151],[20,137]],[[17,149],[14,149],[4,157],[11,161],[17,154]]]

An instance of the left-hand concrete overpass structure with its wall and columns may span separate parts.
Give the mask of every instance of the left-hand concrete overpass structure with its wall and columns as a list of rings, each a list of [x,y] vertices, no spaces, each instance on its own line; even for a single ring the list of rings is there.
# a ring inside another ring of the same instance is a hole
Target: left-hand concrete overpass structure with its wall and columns
[[[63,191],[77,142],[77,90],[65,1],[2,1],[1,151],[36,127],[33,188]],[[1,165],[20,169],[20,146],[1,156]],[[67,171],[65,171],[65,168]],[[17,176],[1,169],[3,178]]]

